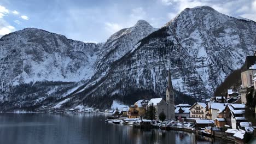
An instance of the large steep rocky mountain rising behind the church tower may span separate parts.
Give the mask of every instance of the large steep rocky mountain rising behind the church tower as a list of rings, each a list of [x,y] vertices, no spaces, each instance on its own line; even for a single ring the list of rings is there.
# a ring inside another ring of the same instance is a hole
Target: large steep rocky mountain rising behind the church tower
[[[176,91],[200,100],[211,97],[225,77],[252,55],[255,28],[254,21],[211,7],[187,8],[112,63],[103,77],[92,76],[93,85],[73,97],[90,106],[109,104],[105,99],[110,98],[132,101],[144,97],[141,92],[146,89],[148,97],[164,97],[168,68]]]

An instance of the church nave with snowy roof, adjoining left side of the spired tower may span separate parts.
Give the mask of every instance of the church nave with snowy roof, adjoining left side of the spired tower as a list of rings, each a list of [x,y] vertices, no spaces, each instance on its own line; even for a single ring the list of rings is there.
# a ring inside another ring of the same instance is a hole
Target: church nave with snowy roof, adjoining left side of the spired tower
[[[155,98],[155,99],[150,99],[147,105],[147,109],[150,105],[154,106],[156,113],[155,113],[155,117],[156,119],[159,119],[159,114],[161,112],[164,112],[167,118],[167,114],[168,113],[168,104],[166,103],[166,101],[162,98]]]

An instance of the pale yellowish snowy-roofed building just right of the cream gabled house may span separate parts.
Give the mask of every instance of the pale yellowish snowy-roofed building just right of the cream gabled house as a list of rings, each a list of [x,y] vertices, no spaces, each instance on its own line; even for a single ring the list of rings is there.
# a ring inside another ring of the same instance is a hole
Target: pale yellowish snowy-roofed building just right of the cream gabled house
[[[219,112],[222,112],[227,104],[225,103],[208,103],[206,106],[206,118],[215,119],[218,118]]]

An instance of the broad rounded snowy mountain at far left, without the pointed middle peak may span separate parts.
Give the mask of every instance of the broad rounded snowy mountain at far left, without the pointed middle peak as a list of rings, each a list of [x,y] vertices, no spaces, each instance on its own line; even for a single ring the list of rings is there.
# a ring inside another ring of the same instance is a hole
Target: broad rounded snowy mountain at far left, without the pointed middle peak
[[[0,45],[0,101],[13,107],[64,97],[68,88],[94,74],[100,52],[94,43],[67,39],[37,28],[4,35]]]

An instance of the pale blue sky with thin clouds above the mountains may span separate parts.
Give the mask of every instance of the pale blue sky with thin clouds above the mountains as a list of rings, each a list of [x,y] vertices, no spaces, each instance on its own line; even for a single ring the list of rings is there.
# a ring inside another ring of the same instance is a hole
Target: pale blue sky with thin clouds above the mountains
[[[0,0],[0,37],[35,27],[100,43],[138,20],[160,28],[185,8],[200,5],[256,21],[256,0]]]

